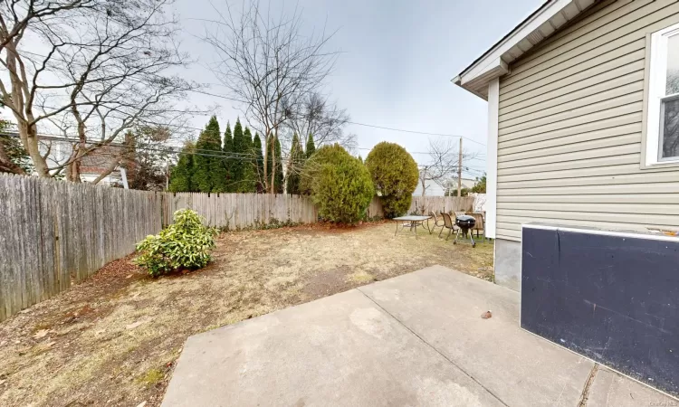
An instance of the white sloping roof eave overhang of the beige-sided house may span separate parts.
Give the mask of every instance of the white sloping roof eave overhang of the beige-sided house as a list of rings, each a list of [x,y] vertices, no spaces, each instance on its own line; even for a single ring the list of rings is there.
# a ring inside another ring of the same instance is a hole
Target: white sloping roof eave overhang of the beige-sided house
[[[451,81],[482,99],[488,99],[488,83],[507,73],[511,62],[595,3],[597,0],[545,2]]]

